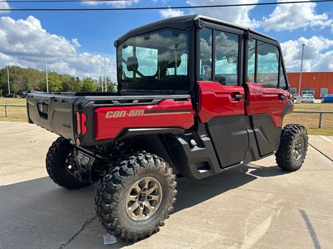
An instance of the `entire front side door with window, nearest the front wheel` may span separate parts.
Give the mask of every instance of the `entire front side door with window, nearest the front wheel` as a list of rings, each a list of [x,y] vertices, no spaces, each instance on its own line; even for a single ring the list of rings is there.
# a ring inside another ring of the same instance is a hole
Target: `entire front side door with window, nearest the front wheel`
[[[278,149],[289,92],[278,44],[256,37],[247,49],[246,115],[264,156]]]

